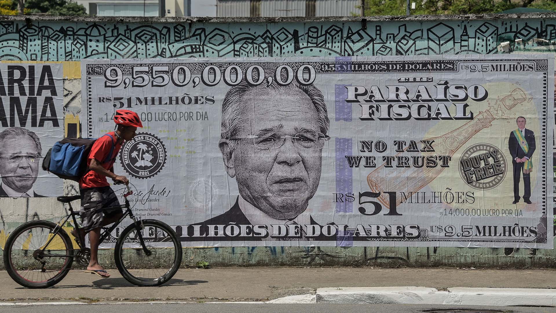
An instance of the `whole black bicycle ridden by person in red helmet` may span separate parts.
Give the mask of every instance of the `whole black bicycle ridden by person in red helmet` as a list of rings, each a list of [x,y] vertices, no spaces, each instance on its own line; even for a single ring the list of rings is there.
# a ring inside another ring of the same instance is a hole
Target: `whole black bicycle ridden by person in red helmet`
[[[177,272],[181,264],[180,239],[170,226],[156,219],[137,219],[130,208],[127,197],[133,194],[129,185],[123,194],[125,204],[105,207],[105,210],[125,208],[122,217],[111,227],[102,227],[100,242],[104,242],[116,227],[129,216],[133,223],[117,236],[114,259],[118,271],[128,282],[137,286],[159,286]],[[76,238],[74,248],[68,234],[62,228],[69,217],[73,219],[76,233],[80,233],[71,202],[81,199],[80,195],[57,197],[68,203],[69,214],[54,224],[38,220],[23,223],[8,236],[4,246],[4,266],[14,281],[28,288],[48,288],[60,282],[68,273],[74,260],[88,265],[90,248]],[[65,218],[65,219],[64,219]],[[114,239],[111,238],[111,242]],[[19,262],[21,261],[21,262]],[[146,269],[145,269],[146,268]],[[141,270],[140,270],[141,269]]]

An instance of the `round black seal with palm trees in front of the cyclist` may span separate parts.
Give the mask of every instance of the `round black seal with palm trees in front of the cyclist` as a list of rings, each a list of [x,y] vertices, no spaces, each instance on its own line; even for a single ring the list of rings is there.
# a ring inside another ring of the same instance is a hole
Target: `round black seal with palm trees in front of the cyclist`
[[[123,169],[135,178],[150,178],[166,164],[166,147],[155,135],[138,133],[120,152]]]

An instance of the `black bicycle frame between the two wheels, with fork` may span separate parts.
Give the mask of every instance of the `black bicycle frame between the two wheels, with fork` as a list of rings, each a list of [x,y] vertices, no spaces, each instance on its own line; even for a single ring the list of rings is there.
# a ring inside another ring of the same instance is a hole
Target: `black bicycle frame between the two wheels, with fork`
[[[118,227],[118,225],[120,225],[120,223],[123,221],[123,219],[125,219],[127,216],[129,216],[132,220],[133,220],[133,224],[135,224],[135,228],[137,231],[137,236],[139,237],[139,241],[141,242],[141,247],[143,248],[143,251],[145,252],[145,254],[147,256],[151,255],[151,251],[149,251],[147,249],[147,246],[145,245],[145,241],[143,240],[143,235],[141,233],[142,229],[145,229],[145,226],[143,226],[143,221],[141,219],[137,219],[135,217],[135,215],[133,215],[133,212],[131,211],[130,208],[130,202],[127,200],[127,196],[131,194],[131,190],[128,187],[129,192],[124,194],[124,199],[125,199],[125,204],[120,204],[119,206],[111,206],[111,207],[105,207],[103,208],[103,211],[110,211],[111,209],[125,209],[126,211],[123,212],[122,217],[116,222],[113,223],[112,226],[110,228],[106,228],[106,227],[102,227],[102,229],[104,230],[101,234],[101,237],[99,238],[99,242],[102,243],[105,241],[106,238],[108,238],[108,236],[110,236],[110,233],[112,233],[112,231],[114,231],[114,229],[116,229],[116,227]],[[60,221],[62,221],[62,219],[64,219],[64,221],[62,223],[58,222],[56,224],[56,227],[54,227],[54,229],[52,229],[52,234],[53,236],[48,240],[48,242],[46,244],[44,244],[44,247],[48,247],[48,244],[52,242],[52,240],[54,239],[54,237],[56,237],[56,234],[59,232],[60,229],[62,229],[62,225],[66,224],[66,222],[68,221],[69,217],[72,217],[73,219],[73,225],[75,226],[75,230],[77,231],[77,233],[79,233],[79,224],[77,223],[77,218],[76,216],[80,214],[80,212],[76,212],[73,211],[73,208],[71,206],[71,203],[69,204],[69,214],[65,217],[62,217],[60,219]],[[77,246],[80,247],[80,249],[85,248],[85,242],[81,242],[81,236],[77,239]],[[44,250],[47,250],[46,248],[42,249],[42,252],[44,252]],[[74,249],[75,250],[75,249]],[[52,257],[75,257],[74,255],[46,255],[46,254],[39,254],[40,257],[48,257],[48,256],[52,256]]]

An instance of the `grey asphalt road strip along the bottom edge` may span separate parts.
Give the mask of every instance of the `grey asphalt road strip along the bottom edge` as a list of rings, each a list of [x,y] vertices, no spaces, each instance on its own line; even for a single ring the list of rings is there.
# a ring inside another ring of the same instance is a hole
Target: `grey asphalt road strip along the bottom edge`
[[[555,313],[556,307],[469,307],[469,306],[443,306],[443,305],[397,305],[397,304],[206,304],[206,303],[180,303],[180,304],[87,304],[87,305],[29,305],[29,306],[0,306],[0,313],[422,313],[430,309],[473,309],[465,313],[488,313],[485,309],[502,310],[515,313]],[[451,310],[450,310],[451,311]],[[442,313],[448,313],[444,311]],[[457,311],[453,311],[458,313]]]

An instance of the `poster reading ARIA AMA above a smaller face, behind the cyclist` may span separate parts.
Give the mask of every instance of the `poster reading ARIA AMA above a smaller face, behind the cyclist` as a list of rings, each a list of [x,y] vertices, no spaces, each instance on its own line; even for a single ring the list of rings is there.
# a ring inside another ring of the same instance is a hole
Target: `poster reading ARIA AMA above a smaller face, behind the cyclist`
[[[62,76],[61,64],[0,65],[0,198],[63,193],[63,181],[41,167],[64,137]]]

